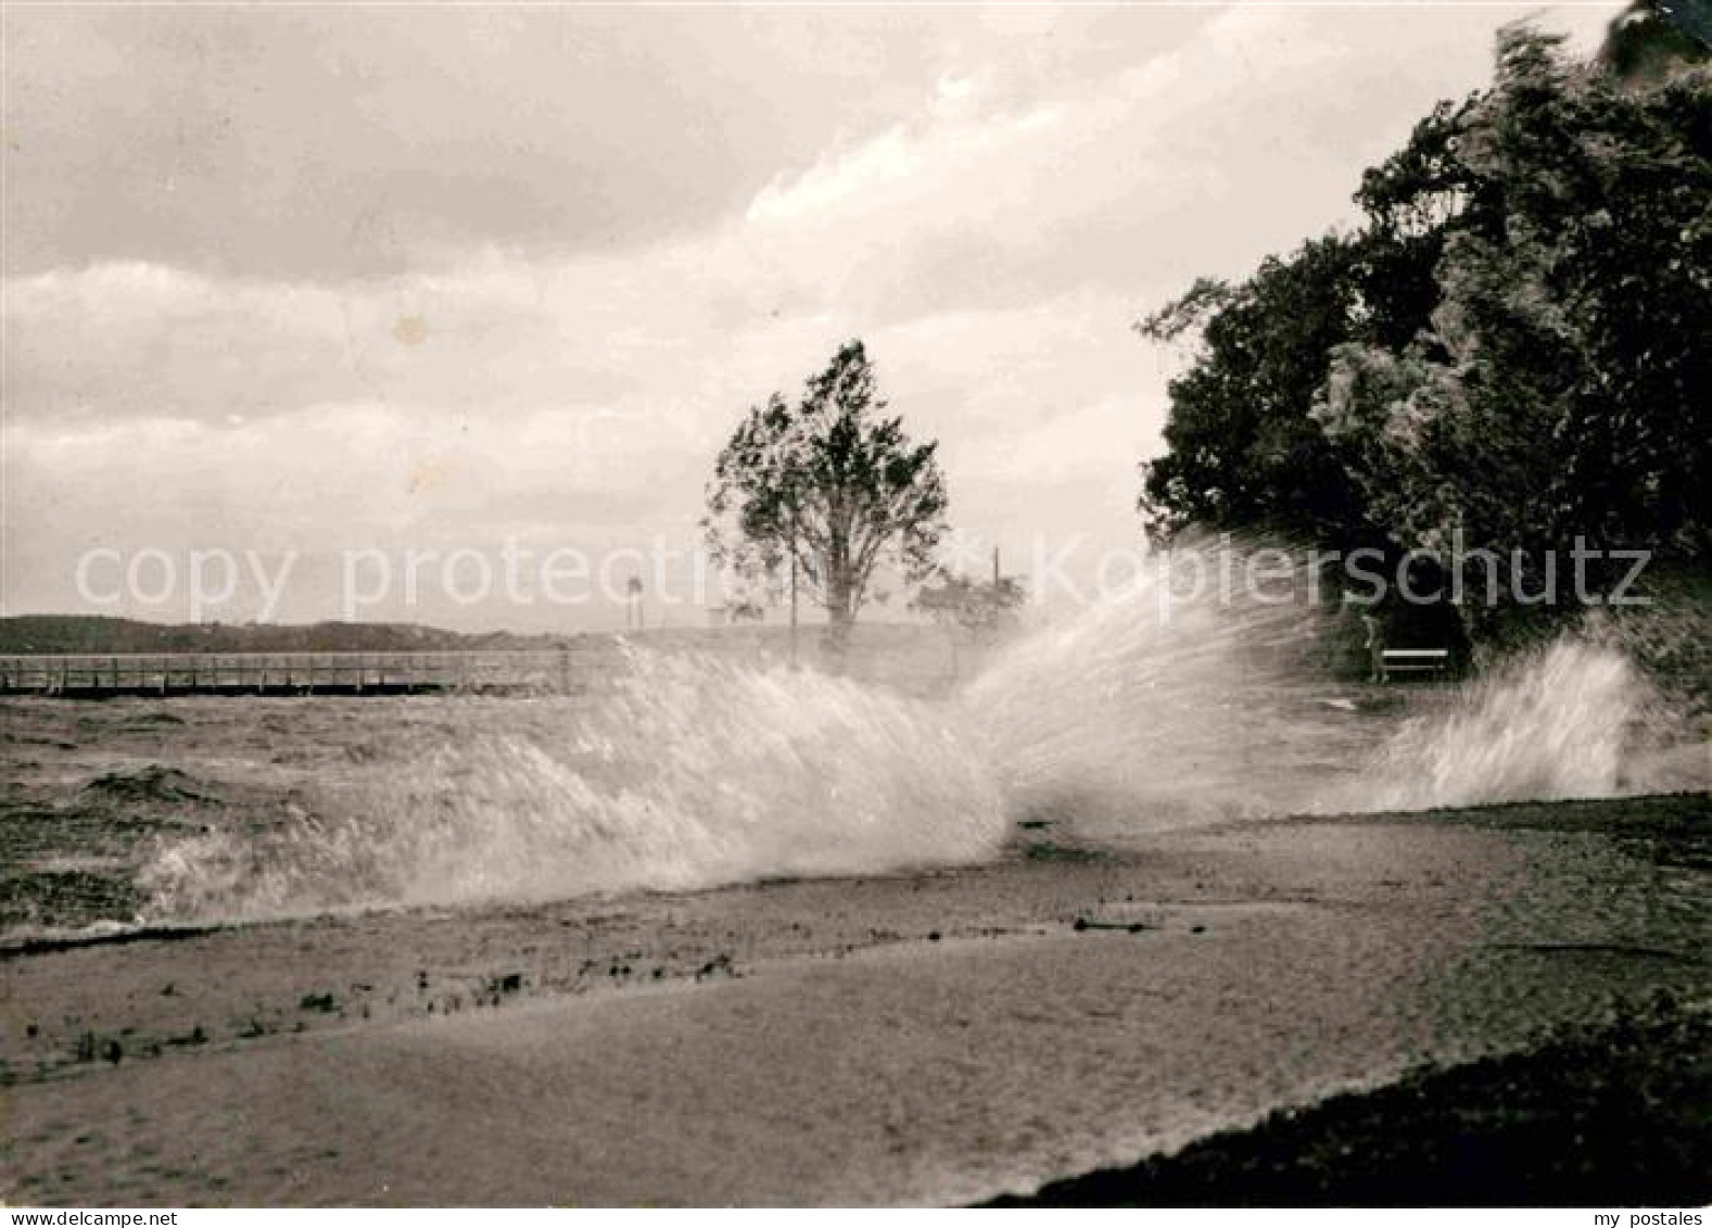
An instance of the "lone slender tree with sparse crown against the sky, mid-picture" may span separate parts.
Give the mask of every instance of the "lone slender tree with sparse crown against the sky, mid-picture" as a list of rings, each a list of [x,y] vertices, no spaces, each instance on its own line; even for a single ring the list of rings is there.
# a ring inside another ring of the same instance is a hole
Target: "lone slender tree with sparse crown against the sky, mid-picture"
[[[752,408],[714,464],[704,529],[738,575],[777,584],[794,567],[847,630],[882,562],[926,575],[945,531],[938,444],[887,414],[861,341],[839,348],[796,402]]]

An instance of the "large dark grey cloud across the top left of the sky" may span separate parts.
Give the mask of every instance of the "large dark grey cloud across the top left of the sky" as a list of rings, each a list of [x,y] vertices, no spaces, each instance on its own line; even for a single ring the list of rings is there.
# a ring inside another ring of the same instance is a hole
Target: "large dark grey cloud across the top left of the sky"
[[[652,241],[895,115],[943,21],[9,7],[7,272],[324,279]]]

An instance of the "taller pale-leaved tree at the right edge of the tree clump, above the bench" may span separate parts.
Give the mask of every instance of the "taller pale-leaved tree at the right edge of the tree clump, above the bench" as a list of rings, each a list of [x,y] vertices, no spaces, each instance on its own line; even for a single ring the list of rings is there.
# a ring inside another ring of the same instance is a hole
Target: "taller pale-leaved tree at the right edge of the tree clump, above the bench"
[[[1334,348],[1311,416],[1373,517],[1411,545],[1455,533],[1539,558],[1580,536],[1702,555],[1707,79],[1625,91],[1556,43],[1500,36],[1498,80],[1457,123],[1438,301],[1407,344]],[[1517,579],[1537,591],[1548,577]]]

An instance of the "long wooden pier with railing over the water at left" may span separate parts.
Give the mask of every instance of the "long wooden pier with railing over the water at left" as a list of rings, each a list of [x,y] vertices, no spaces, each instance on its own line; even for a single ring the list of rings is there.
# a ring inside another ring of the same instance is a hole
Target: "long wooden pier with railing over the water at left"
[[[419,695],[568,692],[567,651],[0,656],[0,695]]]

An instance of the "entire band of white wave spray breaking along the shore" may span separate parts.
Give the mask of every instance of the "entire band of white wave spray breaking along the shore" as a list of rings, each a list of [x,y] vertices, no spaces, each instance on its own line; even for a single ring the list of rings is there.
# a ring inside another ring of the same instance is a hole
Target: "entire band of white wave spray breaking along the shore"
[[[1176,551],[926,702],[853,678],[630,649],[589,697],[454,697],[370,730],[277,822],[163,843],[158,918],[531,901],[993,858],[1017,826],[1137,843],[1289,814],[1703,790],[1703,740],[1614,646],[1488,677],[1334,680],[1311,558]],[[1233,582],[1231,577],[1236,577]],[[363,709],[368,711],[368,709]]]

